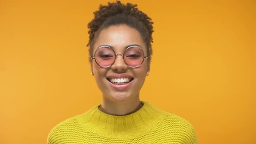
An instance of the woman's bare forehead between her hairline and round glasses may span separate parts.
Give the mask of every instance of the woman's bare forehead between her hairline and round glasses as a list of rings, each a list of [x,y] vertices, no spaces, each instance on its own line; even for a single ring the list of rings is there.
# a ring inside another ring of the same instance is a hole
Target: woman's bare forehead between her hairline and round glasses
[[[146,50],[146,45],[138,30],[123,24],[102,29],[95,40],[94,52],[102,45],[112,46],[116,52],[122,52],[131,45],[139,45]]]

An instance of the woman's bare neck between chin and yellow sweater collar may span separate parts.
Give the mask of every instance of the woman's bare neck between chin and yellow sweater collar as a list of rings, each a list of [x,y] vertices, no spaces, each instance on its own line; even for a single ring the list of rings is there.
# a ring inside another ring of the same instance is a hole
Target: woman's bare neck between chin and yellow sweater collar
[[[142,106],[139,97],[125,101],[111,101],[103,97],[102,105],[100,105],[98,109],[109,115],[129,115],[138,111]]]

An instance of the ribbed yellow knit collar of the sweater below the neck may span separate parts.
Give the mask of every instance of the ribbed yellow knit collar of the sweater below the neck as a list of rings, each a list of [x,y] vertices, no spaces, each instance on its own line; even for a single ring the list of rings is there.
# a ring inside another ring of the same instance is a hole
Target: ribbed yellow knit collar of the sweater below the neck
[[[100,137],[125,139],[147,134],[164,118],[165,112],[146,101],[143,106],[129,115],[108,115],[98,109],[99,105],[76,117],[79,124]]]

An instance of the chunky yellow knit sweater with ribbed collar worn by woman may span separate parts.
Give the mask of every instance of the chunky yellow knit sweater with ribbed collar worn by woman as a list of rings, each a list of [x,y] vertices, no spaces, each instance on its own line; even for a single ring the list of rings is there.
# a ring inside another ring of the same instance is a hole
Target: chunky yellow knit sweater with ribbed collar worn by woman
[[[130,115],[108,115],[91,108],[57,124],[47,144],[197,144],[194,127],[146,101]]]

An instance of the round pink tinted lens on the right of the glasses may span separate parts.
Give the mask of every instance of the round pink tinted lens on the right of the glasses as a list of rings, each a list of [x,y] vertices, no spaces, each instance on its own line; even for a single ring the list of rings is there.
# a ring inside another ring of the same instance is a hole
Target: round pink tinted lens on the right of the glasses
[[[129,66],[138,66],[144,60],[144,54],[138,47],[130,47],[124,53],[125,63]]]

